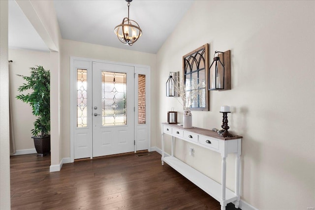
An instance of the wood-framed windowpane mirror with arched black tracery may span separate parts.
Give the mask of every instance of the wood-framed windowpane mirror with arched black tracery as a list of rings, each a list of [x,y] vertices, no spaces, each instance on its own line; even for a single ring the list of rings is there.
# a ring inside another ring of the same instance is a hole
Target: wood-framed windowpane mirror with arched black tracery
[[[209,44],[183,56],[183,78],[186,95],[194,95],[190,110],[209,111],[208,68]]]

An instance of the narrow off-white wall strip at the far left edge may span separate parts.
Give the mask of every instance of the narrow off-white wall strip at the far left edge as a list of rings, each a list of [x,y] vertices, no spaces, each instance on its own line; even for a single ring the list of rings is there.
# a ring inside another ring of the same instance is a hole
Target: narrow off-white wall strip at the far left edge
[[[9,71],[8,71],[8,1],[0,1],[0,209],[9,210]]]

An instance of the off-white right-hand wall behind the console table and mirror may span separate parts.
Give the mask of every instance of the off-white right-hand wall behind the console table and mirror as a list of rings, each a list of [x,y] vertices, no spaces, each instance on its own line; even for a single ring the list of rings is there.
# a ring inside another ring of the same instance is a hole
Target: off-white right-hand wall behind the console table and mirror
[[[168,72],[182,72],[182,56],[205,43],[210,63],[215,50],[231,50],[232,90],[211,91],[210,111],[193,111],[193,126],[220,128],[220,107],[233,108],[230,131],[243,136],[241,199],[260,210],[314,207],[315,1],[196,0],[157,54],[157,130],[171,107],[183,112],[165,97]],[[192,146],[191,157],[189,143],[176,144],[176,156],[221,181],[219,154]]]

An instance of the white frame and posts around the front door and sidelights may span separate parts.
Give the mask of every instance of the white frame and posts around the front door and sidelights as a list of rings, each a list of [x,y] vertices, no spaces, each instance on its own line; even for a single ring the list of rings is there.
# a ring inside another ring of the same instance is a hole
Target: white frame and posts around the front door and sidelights
[[[114,62],[114,61],[108,61],[108,60],[97,60],[97,59],[88,59],[88,58],[80,58],[80,57],[70,57],[70,159],[71,162],[74,162],[74,131],[76,129],[76,104],[77,104],[77,98],[76,98],[76,81],[77,81],[77,72],[76,72],[76,66],[74,66],[74,60],[77,61],[85,61],[85,62],[90,62],[90,66],[91,66],[91,70],[92,70],[92,62],[103,62],[103,63],[111,63],[111,64],[118,64],[118,65],[129,65],[129,66],[133,66],[135,69],[135,77],[138,74],[144,74],[146,75],[146,124],[148,127],[148,151],[151,151],[151,67],[148,65],[139,65],[139,64],[133,64],[133,63],[125,63],[125,62]],[[82,68],[84,68],[84,66],[82,66]],[[85,67],[86,68],[86,67]],[[88,78],[89,81],[89,78]],[[92,81],[92,74],[91,74],[91,81]],[[90,83],[91,83],[90,81]],[[135,80],[136,82],[137,80]],[[92,88],[92,85],[88,85],[88,87]],[[89,90],[88,90],[89,91]],[[137,101],[137,96],[138,96],[138,92],[135,91],[135,98]],[[91,97],[90,97],[91,98]],[[88,99],[88,106],[90,104],[90,108],[91,110],[88,110],[88,114],[92,113],[92,98],[91,98],[91,102]],[[136,106],[136,103],[135,103]],[[137,129],[137,116],[138,116],[138,112],[137,109],[135,107],[135,139],[137,139],[136,136],[136,129]],[[91,114],[92,116],[92,114]],[[92,117],[90,118],[92,120]],[[89,123],[89,122],[88,122]],[[90,122],[90,124],[92,125],[92,123]],[[91,147],[91,155],[90,158],[93,158],[93,147],[92,147],[92,132],[91,134],[91,142],[90,142],[90,147]],[[135,147],[135,151],[136,151],[136,147]]]

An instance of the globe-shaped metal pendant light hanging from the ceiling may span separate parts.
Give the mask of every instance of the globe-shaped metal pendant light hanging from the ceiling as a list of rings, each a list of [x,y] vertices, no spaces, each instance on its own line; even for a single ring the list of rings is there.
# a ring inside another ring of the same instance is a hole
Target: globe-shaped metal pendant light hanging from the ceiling
[[[114,30],[119,41],[129,46],[132,46],[142,35],[139,24],[129,19],[129,6],[131,1],[132,0],[126,0],[126,2],[128,2],[128,17],[124,18],[122,24],[116,26]]]

